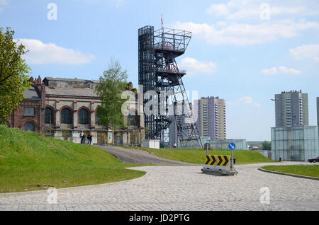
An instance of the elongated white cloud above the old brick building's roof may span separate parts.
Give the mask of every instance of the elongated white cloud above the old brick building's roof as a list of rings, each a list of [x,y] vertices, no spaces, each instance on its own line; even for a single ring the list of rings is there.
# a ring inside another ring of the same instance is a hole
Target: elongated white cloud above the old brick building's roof
[[[40,40],[19,39],[17,42],[29,50],[24,56],[29,64],[87,64],[95,58],[92,54],[84,54],[54,43],[46,44]]]

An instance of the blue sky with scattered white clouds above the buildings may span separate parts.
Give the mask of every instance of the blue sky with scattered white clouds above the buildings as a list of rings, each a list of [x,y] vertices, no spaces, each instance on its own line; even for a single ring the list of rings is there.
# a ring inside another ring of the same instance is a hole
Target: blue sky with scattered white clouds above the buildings
[[[226,100],[228,139],[264,141],[281,91],[308,93],[317,125],[319,2],[314,0],[0,0],[0,27],[29,52],[33,77],[98,80],[113,57],[138,86],[138,29],[191,31],[183,82]],[[191,99],[194,100],[194,99]]]

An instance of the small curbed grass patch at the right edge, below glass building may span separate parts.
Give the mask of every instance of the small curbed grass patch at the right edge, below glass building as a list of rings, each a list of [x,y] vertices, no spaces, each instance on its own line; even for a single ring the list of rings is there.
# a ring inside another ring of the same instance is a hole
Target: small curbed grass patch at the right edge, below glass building
[[[297,175],[307,175],[319,178],[319,165],[296,165],[296,166],[263,166],[268,171],[276,171],[281,173],[291,173]]]

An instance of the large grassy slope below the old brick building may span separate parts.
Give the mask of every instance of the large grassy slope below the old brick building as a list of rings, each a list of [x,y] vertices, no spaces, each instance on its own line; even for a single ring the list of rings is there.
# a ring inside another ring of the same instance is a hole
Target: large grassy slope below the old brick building
[[[40,137],[0,125],[0,192],[69,188],[145,175],[94,146]]]

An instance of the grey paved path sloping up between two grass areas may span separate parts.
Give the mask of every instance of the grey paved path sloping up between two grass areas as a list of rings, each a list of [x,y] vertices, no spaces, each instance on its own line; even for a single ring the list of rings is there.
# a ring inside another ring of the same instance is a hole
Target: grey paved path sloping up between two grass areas
[[[124,163],[138,163],[138,164],[150,164],[159,166],[198,166],[193,163],[184,163],[181,161],[169,160],[166,158],[160,158],[151,154],[148,151],[138,149],[124,149],[121,147],[113,146],[98,146],[100,149],[108,151],[119,160]]]

